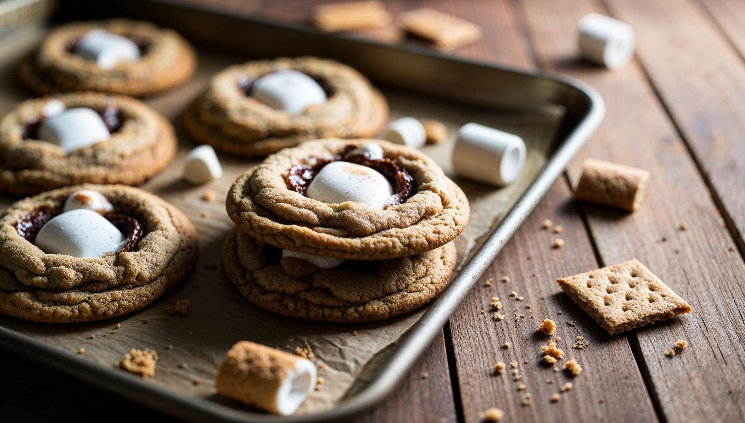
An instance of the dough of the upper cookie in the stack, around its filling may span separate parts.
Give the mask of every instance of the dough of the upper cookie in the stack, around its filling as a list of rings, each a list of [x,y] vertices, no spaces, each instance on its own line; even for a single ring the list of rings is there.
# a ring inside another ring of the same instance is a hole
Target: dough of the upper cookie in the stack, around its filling
[[[404,203],[375,209],[364,203],[322,203],[288,188],[288,172],[349,148],[375,143],[384,159],[412,178]],[[233,182],[226,210],[257,240],[297,252],[347,260],[387,260],[420,254],[452,241],[466,227],[463,191],[419,150],[373,139],[306,141],[273,154]]]

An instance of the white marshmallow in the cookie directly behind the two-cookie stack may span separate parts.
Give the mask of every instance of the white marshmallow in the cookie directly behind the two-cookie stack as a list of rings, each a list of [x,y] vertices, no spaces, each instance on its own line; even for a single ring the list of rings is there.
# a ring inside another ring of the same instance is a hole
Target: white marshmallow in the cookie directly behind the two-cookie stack
[[[326,101],[326,92],[301,71],[276,71],[260,77],[251,87],[251,95],[273,109],[292,115],[305,112],[308,106]]]

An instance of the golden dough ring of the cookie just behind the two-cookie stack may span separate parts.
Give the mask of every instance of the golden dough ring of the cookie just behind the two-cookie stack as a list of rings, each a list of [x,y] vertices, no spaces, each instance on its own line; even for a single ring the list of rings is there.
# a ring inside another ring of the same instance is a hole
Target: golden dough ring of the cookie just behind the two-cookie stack
[[[328,96],[299,114],[273,109],[249,95],[260,77],[295,70],[313,77]],[[334,60],[298,57],[230,66],[188,107],[184,127],[193,139],[223,153],[266,156],[302,141],[374,136],[388,120],[383,95],[358,71]]]

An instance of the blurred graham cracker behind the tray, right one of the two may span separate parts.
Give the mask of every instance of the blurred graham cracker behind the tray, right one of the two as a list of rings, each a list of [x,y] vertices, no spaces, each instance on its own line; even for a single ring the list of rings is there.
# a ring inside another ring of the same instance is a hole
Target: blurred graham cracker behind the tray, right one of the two
[[[475,23],[429,7],[409,10],[399,19],[407,31],[434,42],[439,51],[451,51],[481,38],[481,27]]]

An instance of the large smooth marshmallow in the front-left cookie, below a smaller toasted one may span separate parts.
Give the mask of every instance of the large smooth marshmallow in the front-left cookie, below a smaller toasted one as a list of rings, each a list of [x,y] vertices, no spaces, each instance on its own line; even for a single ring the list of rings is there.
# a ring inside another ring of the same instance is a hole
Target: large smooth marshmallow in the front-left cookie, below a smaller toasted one
[[[76,209],[49,220],[39,230],[34,245],[47,254],[99,258],[118,252],[127,237],[106,217],[89,209]]]

